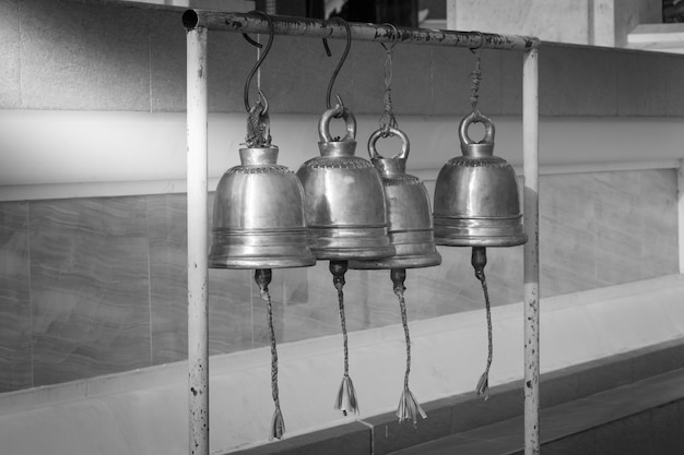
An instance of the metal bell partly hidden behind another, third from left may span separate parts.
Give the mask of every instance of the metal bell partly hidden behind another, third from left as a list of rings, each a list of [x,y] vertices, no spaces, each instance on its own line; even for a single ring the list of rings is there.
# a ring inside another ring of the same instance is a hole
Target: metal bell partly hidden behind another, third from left
[[[416,268],[439,265],[441,256],[435,247],[427,189],[421,179],[406,173],[409,137],[397,128],[390,128],[389,132],[401,139],[401,153],[392,158],[380,156],[376,143],[385,132],[378,130],[368,140],[368,154],[382,179],[389,238],[396,253],[385,259],[352,261],[350,268]]]

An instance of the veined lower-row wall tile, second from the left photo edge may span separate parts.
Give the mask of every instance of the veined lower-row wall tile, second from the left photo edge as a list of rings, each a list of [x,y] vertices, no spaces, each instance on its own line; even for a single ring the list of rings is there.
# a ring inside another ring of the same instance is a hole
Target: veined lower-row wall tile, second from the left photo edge
[[[30,205],[34,384],[151,362],[144,197]]]

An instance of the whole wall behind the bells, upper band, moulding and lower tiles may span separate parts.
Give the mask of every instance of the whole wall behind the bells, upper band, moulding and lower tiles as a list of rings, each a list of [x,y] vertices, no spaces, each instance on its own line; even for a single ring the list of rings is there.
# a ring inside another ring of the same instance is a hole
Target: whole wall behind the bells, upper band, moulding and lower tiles
[[[0,391],[186,357],[181,11],[0,0]],[[331,45],[337,56],[341,43]],[[541,56],[541,159],[563,172],[540,183],[543,296],[676,273],[684,60],[558,45]],[[355,43],[335,85],[363,123],[362,144],[380,113],[384,57]],[[238,34],[210,34],[213,177],[237,159],[253,59]],[[317,153],[302,144],[317,141],[335,63],[318,40],[284,37],[264,63],[271,113],[287,127],[278,143],[294,144],[283,152],[291,167]],[[467,49],[397,47],[393,99],[421,177],[455,155],[451,125],[469,109],[473,64]],[[517,53],[483,53],[481,107],[499,127],[497,155],[516,165],[520,68]],[[409,274],[411,320],[483,307],[470,252],[440,252],[441,266]],[[490,252],[495,306],[521,299],[521,256]],[[212,354],[267,344],[250,275],[211,271]],[[388,275],[350,272],[350,330],[400,321]],[[339,333],[327,264],[278,271],[271,291],[280,340]]]

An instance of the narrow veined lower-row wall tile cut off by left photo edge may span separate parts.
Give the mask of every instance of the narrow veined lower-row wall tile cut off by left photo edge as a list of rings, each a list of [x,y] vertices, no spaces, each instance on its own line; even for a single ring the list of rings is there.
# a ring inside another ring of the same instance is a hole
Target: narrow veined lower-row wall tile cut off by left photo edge
[[[33,384],[27,205],[0,204],[0,393]]]

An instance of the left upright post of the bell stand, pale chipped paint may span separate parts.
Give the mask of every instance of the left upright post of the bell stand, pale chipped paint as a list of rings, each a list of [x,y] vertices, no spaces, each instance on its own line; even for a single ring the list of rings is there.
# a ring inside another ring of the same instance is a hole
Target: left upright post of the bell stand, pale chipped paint
[[[205,27],[188,29],[187,52],[189,453],[209,455]]]

